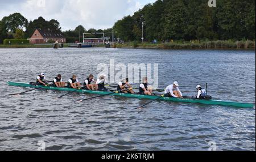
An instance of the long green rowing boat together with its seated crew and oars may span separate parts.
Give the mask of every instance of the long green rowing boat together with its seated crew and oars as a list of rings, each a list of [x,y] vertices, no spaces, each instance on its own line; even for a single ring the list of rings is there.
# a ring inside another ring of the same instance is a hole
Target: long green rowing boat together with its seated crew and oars
[[[57,91],[67,91],[68,93],[65,95],[68,95],[69,93],[72,93],[72,92],[90,93],[90,94],[99,95],[99,96],[91,97],[92,99],[96,97],[110,95],[110,96],[133,97],[138,99],[151,100],[149,103],[139,108],[142,108],[156,100],[173,101],[173,102],[181,102],[181,103],[195,103],[195,104],[197,103],[197,104],[206,104],[206,105],[236,106],[238,108],[254,107],[254,104],[251,104],[251,103],[238,103],[233,101],[212,100],[212,97],[209,96],[207,93],[208,84],[206,85],[206,89],[202,88],[200,85],[196,86],[196,89],[198,92],[196,96],[185,97],[182,95],[179,89],[179,84],[177,82],[174,82],[173,84],[168,86],[166,89],[162,89],[162,90],[155,89],[155,91],[157,90],[157,91],[164,92],[164,94],[160,94],[160,93],[153,93],[153,89],[151,86],[148,85],[146,77],[143,78],[143,81],[140,84],[139,88],[133,88],[131,84],[128,82],[129,81],[128,79],[121,80],[121,82],[119,82],[117,86],[106,85],[105,74],[100,75],[96,83],[93,79],[93,75],[90,75],[88,78],[85,79],[84,87],[81,87],[81,84],[79,80],[76,78],[76,75],[73,75],[73,77],[68,80],[68,84],[71,86],[64,87],[63,86],[64,83],[61,83],[62,82],[61,75],[58,75],[58,76],[60,77],[56,77],[55,79],[53,79],[52,84],[47,83],[46,77],[44,76],[44,74],[39,75],[37,77],[36,83],[7,82],[7,84],[9,84],[10,86],[29,87],[34,89],[51,89],[51,90],[57,90]],[[109,88],[106,88],[106,87],[109,87]],[[26,92],[33,91],[34,89],[28,90]],[[139,92],[134,92],[133,89],[139,89]],[[17,93],[17,94],[19,95],[26,92]],[[17,94],[14,94],[14,95],[17,95]],[[84,100],[79,100],[79,101],[84,101]]]

